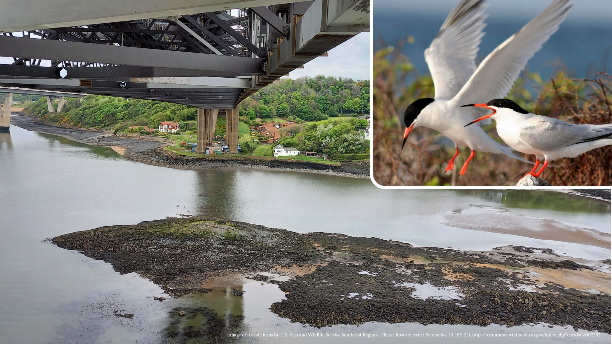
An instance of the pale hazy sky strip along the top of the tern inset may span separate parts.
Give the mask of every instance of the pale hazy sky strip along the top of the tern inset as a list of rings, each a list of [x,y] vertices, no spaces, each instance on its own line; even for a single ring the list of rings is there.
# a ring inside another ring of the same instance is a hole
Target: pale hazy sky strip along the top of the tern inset
[[[448,14],[458,0],[376,0],[373,11],[410,10],[412,12],[444,12]],[[512,17],[534,17],[553,0],[487,0],[487,13]],[[573,0],[572,15],[567,20],[595,20],[610,22],[612,0]],[[376,23],[373,23],[376,26]]]

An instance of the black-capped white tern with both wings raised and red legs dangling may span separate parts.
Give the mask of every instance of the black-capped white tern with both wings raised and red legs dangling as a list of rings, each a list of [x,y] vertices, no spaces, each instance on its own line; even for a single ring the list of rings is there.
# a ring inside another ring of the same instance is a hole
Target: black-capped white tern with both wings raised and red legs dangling
[[[406,130],[401,148],[404,148],[412,129],[423,126],[441,132],[455,144],[456,152],[446,171],[453,169],[460,146],[471,150],[460,175],[465,174],[474,151],[506,154],[526,162],[513,154],[512,149],[493,140],[480,125],[465,127],[466,123],[485,112],[470,111],[461,105],[505,97],[528,59],[542,48],[567,17],[567,11],[572,7],[568,2],[554,0],[534,20],[495,48],[476,68],[474,60],[484,36],[482,29],[485,28],[487,15],[484,10],[487,6],[483,0],[461,0],[425,50],[435,96],[434,99],[416,100],[406,109]],[[481,123],[490,124],[490,121]]]

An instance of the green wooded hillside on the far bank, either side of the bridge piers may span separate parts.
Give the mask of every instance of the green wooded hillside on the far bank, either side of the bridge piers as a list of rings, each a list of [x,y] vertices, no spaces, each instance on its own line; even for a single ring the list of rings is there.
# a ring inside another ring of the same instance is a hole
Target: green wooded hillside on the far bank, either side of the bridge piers
[[[3,98],[4,94],[0,94],[0,100]],[[124,130],[129,125],[148,125],[155,128],[161,121],[176,121],[181,124],[182,129],[192,130],[197,117],[196,108],[187,105],[106,95],[90,94],[83,98],[67,98],[62,112],[49,116],[45,97],[13,94],[13,100],[34,101],[26,108],[28,113],[45,116],[51,123],[78,127],[113,127]],[[248,116],[252,121],[256,118],[269,121],[269,118],[274,116],[293,116],[294,121],[301,123],[334,118],[340,113],[357,117],[369,110],[369,80],[354,81],[350,78],[317,75],[314,78],[274,81],[243,100],[239,107],[239,116]],[[354,128],[353,126],[352,129]],[[320,149],[318,141],[313,144]]]

